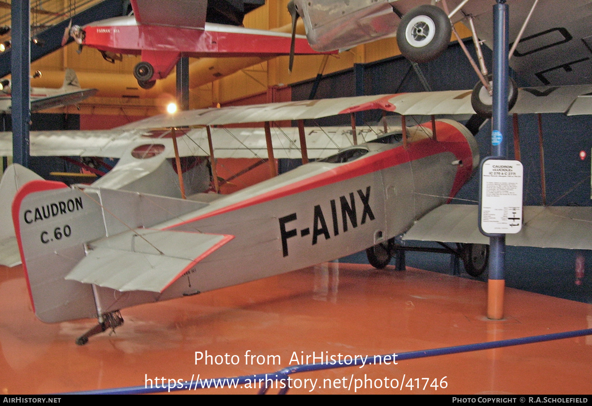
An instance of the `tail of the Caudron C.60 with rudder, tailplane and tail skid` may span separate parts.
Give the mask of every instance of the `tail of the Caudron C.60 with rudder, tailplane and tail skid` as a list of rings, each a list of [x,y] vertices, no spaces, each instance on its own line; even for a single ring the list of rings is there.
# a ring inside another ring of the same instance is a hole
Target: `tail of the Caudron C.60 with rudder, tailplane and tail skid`
[[[136,192],[67,188],[51,181],[25,184],[12,219],[37,318],[60,322],[98,318],[79,337],[123,322],[117,312],[155,302],[173,282],[231,235],[150,229],[207,203]],[[199,293],[186,287],[178,296]]]

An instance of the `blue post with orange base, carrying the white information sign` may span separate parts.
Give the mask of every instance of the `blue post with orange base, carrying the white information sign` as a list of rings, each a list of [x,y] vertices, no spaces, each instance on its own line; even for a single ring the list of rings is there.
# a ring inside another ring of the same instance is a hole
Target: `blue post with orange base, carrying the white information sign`
[[[497,0],[493,7],[493,114],[491,117],[491,155],[506,157],[508,128],[508,5]],[[495,135],[495,136],[494,136]],[[506,235],[490,237],[487,317],[503,318]]]

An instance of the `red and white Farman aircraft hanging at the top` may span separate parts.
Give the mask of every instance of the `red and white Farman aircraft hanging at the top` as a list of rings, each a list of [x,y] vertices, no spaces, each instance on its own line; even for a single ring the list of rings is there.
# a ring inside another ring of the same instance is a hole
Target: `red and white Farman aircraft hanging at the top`
[[[274,57],[290,53],[289,34],[206,23],[207,0],[131,0],[131,6],[134,15],[69,27],[63,44],[70,35],[81,46],[98,49],[111,62],[117,54],[141,55],[134,76],[146,89],[166,78],[182,56]],[[318,52],[304,36],[298,36],[295,53]]]

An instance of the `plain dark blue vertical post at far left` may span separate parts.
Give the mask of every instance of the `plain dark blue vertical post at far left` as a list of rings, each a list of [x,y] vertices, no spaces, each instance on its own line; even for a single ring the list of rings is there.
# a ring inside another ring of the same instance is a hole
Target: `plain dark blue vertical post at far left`
[[[12,161],[29,166],[30,94],[30,1],[13,1],[12,12]]]

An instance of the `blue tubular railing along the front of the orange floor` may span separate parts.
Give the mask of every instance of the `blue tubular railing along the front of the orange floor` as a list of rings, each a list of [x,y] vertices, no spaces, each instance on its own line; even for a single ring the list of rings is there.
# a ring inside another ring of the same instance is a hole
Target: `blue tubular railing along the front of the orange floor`
[[[276,382],[275,387],[279,388],[278,394],[283,395],[288,392],[288,389],[291,389],[289,387],[288,383],[289,383],[289,379],[291,379],[290,376],[295,373],[313,372],[313,371],[318,371],[318,370],[336,369],[336,368],[349,367],[349,366],[373,365],[374,363],[382,363],[387,360],[388,360],[388,362],[393,362],[393,361],[400,362],[400,361],[404,361],[404,360],[433,357],[433,356],[438,356],[438,355],[466,353],[469,351],[491,350],[491,349],[496,349],[496,348],[501,348],[501,347],[520,346],[522,344],[541,343],[543,341],[562,340],[563,338],[583,337],[584,335],[592,335],[592,328],[587,328],[585,330],[567,331],[564,333],[533,335],[531,337],[523,337],[523,338],[511,338],[509,340],[489,341],[487,343],[466,344],[464,346],[444,347],[444,348],[439,348],[439,349],[430,349],[430,350],[423,350],[423,351],[408,351],[406,353],[396,354],[395,358],[393,357],[394,353],[389,353],[389,354],[384,354],[384,355],[367,356],[366,359],[363,361],[360,359],[355,359],[355,360],[352,360],[352,362],[350,362],[350,363],[340,361],[340,362],[335,362],[335,363],[316,363],[316,364],[295,365],[295,366],[291,366],[291,367],[287,367],[287,368],[278,370],[277,372],[259,373],[257,375],[243,375],[243,376],[236,376],[234,378],[210,378],[210,379],[198,379],[198,380],[194,381],[195,377],[192,377],[192,379],[190,381],[184,381],[184,382],[176,381],[171,386],[165,385],[165,383],[162,382],[162,385],[159,388],[152,388],[152,387],[146,388],[146,385],[144,385],[144,386],[128,386],[127,388],[97,389],[96,391],[83,391],[83,392],[74,392],[74,393],[75,394],[83,394],[83,395],[148,394],[148,393],[156,393],[156,392],[172,392],[172,391],[187,391],[187,390],[197,390],[197,389],[223,388],[223,387],[229,386],[229,385],[234,386],[234,387],[238,387],[238,385],[244,385],[245,383],[253,385],[253,382],[258,382],[259,385],[260,385],[260,383],[265,384],[262,386],[262,388],[260,388],[259,394],[265,394],[267,392],[268,388],[274,386],[273,384],[268,385],[268,382],[272,382],[272,383]],[[404,378],[403,378],[403,380],[404,380]],[[280,383],[282,383],[282,384],[280,385]],[[283,386],[283,387],[281,387],[281,386]],[[350,381],[350,386],[351,386],[351,381]],[[402,386],[402,382],[401,382],[401,386]]]

